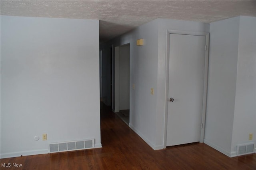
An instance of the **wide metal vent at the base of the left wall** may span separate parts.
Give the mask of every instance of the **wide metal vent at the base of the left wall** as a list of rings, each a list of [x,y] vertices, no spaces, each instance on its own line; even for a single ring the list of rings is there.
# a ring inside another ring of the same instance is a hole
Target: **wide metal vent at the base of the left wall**
[[[49,143],[48,152],[64,152],[94,148],[94,139]]]

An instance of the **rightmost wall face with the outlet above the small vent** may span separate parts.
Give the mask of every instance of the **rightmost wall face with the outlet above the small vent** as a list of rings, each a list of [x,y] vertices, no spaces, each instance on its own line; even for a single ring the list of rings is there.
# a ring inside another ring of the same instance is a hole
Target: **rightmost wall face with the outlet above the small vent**
[[[240,16],[236,98],[232,132],[231,156],[236,145],[256,142],[256,18]],[[253,140],[249,141],[249,133]]]

